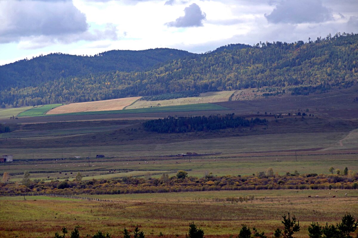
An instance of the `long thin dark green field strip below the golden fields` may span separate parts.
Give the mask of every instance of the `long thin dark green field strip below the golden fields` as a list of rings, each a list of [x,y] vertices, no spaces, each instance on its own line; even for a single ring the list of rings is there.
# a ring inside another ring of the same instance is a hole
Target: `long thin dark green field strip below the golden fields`
[[[127,110],[112,110],[112,111],[94,111],[94,112],[72,112],[52,115],[33,115],[33,116],[75,116],[75,115],[96,115],[96,114],[127,114],[127,113],[151,113],[151,112],[189,112],[189,111],[216,111],[216,110],[230,110],[230,108],[223,107],[214,103],[199,103],[178,106],[165,107],[149,107]]]

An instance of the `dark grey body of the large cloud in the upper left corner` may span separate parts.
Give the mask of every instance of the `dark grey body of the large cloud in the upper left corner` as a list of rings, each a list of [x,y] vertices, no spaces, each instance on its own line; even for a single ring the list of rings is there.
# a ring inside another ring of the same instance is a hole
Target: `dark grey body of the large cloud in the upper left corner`
[[[20,37],[85,32],[86,16],[72,1],[1,1],[0,42]]]

